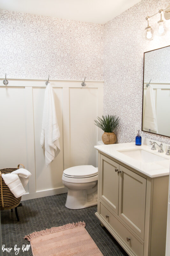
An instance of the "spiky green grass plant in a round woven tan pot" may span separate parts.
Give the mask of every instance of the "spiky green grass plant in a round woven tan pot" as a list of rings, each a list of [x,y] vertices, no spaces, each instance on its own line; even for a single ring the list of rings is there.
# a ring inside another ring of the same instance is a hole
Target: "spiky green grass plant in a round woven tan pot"
[[[119,125],[119,117],[114,115],[105,115],[97,120],[94,120],[95,124],[104,131],[102,135],[102,141],[104,144],[114,144],[116,141],[116,135],[114,133],[115,128]]]

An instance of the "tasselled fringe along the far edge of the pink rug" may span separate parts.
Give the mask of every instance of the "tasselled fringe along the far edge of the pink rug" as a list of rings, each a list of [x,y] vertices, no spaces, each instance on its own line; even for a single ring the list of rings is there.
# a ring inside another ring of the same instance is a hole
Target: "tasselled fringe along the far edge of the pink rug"
[[[41,231],[35,231],[35,232],[25,236],[24,239],[27,239],[30,242],[31,239],[39,237],[39,236],[44,236],[44,235],[48,235],[50,233],[55,233],[58,231],[62,231],[62,230],[70,229],[70,228],[77,228],[77,227],[85,227],[85,222],[84,221],[83,222],[79,221],[76,223],[73,222],[73,223],[68,223],[68,224],[60,226],[60,227],[46,228]]]

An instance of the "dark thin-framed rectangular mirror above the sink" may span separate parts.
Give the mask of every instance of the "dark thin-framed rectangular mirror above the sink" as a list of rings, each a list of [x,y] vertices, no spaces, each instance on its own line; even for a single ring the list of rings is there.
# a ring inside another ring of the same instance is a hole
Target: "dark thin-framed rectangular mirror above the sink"
[[[142,131],[170,137],[170,45],[144,52]]]

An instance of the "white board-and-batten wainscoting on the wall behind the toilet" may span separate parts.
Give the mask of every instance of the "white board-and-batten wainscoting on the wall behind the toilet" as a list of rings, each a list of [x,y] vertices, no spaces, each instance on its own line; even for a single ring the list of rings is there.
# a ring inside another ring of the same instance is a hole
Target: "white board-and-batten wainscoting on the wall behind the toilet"
[[[40,136],[45,80],[0,79],[1,169],[24,164],[32,173],[22,200],[67,192],[63,170],[74,165],[97,166],[94,145],[102,131],[94,119],[103,114],[103,82],[50,81],[60,128],[61,151],[46,167]]]

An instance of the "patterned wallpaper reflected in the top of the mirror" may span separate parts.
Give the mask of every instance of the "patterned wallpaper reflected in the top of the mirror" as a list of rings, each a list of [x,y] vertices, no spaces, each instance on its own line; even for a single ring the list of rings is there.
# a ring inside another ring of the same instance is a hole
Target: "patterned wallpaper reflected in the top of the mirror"
[[[170,84],[170,46],[144,54],[144,83],[150,80]]]

